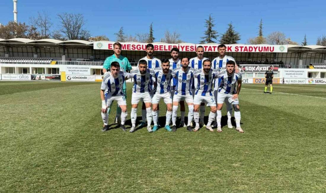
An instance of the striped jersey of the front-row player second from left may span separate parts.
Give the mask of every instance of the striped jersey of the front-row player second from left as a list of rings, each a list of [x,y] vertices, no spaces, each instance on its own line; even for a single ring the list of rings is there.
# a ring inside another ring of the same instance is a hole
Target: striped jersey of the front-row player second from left
[[[134,79],[133,92],[144,93],[152,91],[153,77],[155,73],[152,69],[147,69],[145,74],[141,74],[139,69],[134,69],[130,72],[128,78]]]

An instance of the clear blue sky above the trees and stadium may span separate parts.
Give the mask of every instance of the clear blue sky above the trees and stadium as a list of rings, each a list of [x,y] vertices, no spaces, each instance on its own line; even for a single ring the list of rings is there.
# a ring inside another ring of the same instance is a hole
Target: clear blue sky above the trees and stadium
[[[123,2],[123,3],[121,3]],[[163,3],[164,2],[164,3]],[[215,30],[221,35],[232,22],[240,32],[239,43],[246,43],[258,32],[263,19],[263,32],[268,35],[281,31],[291,40],[301,43],[304,34],[308,44],[316,44],[326,35],[325,0],[273,0],[273,1],[86,1],[86,0],[18,0],[18,21],[28,23],[37,11],[46,11],[52,18],[53,29],[58,26],[56,14],[62,12],[82,13],[87,19],[86,29],[93,36],[106,35],[115,40],[114,33],[124,27],[128,35],[146,33],[151,22],[157,41],[165,30],[177,31],[181,40],[198,43],[203,36],[204,20],[211,13],[215,18]],[[12,0],[0,1],[0,23],[13,20]]]

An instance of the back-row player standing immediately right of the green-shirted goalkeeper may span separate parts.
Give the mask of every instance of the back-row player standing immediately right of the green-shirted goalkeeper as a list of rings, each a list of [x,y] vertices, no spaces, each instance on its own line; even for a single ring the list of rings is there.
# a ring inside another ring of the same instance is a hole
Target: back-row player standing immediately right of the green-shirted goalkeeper
[[[141,60],[145,60],[147,62],[147,68],[148,69],[154,69],[154,68],[159,68],[161,67],[161,60],[154,57],[153,56],[154,53],[154,45],[149,43],[146,45],[146,56],[141,58],[139,61]],[[139,65],[139,62],[138,62]],[[137,65],[137,66],[138,66]],[[151,92],[151,96],[153,97],[153,93],[155,91],[155,85],[152,85],[152,92]],[[157,114],[159,115],[159,106],[157,106]],[[145,103],[142,104],[141,106],[141,124],[139,125],[140,127],[143,127],[145,125],[145,121],[146,121],[146,106]]]

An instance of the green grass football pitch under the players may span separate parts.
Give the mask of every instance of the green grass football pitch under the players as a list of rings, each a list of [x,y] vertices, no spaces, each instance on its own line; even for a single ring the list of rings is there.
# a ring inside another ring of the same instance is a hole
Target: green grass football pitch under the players
[[[0,192],[325,192],[326,86],[263,87],[241,89],[244,134],[224,107],[222,133],[129,133],[116,103],[101,132],[99,83],[0,82]]]

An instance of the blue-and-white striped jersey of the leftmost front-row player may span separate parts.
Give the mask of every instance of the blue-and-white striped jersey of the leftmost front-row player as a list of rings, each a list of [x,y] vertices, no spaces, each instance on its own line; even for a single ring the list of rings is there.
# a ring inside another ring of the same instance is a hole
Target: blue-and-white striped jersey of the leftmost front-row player
[[[121,96],[124,95],[122,92],[125,79],[128,77],[129,73],[125,71],[120,71],[117,78],[114,78],[111,72],[107,73],[103,77],[101,89],[105,90],[106,95],[109,96]]]

